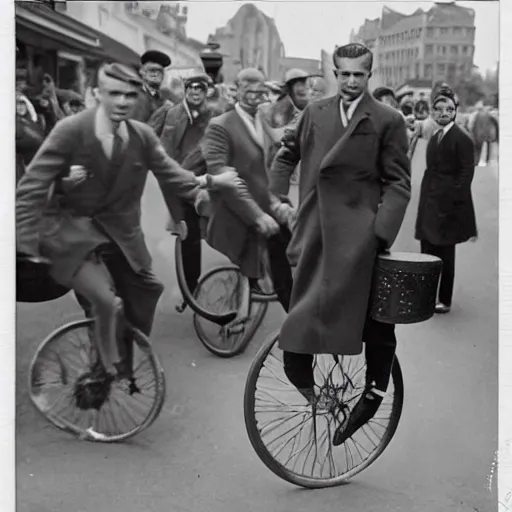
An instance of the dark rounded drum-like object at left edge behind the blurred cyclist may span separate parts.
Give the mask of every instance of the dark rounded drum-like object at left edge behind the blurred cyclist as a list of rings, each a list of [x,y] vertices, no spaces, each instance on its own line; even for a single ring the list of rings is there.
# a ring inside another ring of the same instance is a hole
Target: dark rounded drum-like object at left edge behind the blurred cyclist
[[[47,302],[66,295],[69,288],[49,275],[49,265],[16,255],[16,302]]]

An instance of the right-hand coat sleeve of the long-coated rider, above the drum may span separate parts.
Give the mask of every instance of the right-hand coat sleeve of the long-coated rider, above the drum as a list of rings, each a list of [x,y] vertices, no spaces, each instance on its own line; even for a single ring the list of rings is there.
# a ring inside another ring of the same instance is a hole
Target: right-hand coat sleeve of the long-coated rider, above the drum
[[[382,139],[380,178],[381,204],[375,218],[375,234],[391,247],[402,225],[411,198],[411,163],[403,117],[396,116]]]

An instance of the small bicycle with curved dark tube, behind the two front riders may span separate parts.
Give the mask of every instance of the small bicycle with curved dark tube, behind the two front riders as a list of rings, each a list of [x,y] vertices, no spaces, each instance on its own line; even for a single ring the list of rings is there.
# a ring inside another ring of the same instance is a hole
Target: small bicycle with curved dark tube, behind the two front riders
[[[268,272],[260,281],[263,293],[257,293],[251,290],[249,280],[236,265],[221,265],[203,274],[192,293],[185,279],[181,251],[187,237],[186,223],[176,224],[171,233],[176,237],[176,276],[184,298],[176,310],[182,313],[187,306],[192,309],[197,336],[212,354],[222,358],[241,354],[261,325],[268,304],[277,301]],[[219,287],[218,292],[215,287]]]

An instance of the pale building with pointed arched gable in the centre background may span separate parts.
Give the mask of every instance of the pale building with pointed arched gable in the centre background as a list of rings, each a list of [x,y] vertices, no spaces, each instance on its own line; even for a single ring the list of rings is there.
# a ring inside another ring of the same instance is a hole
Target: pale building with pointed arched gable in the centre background
[[[280,80],[284,46],[272,18],[253,4],[244,4],[212,38],[224,55],[222,75],[233,83],[243,68],[259,68],[268,80]]]

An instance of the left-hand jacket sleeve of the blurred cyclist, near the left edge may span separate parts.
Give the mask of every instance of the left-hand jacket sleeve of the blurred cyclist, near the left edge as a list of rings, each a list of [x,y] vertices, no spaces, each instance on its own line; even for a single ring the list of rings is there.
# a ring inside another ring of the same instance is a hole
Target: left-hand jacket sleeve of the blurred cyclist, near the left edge
[[[58,122],[36,153],[16,189],[17,250],[39,255],[40,219],[56,178],[67,173],[73,148],[79,141],[74,119]]]

